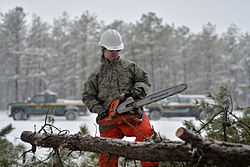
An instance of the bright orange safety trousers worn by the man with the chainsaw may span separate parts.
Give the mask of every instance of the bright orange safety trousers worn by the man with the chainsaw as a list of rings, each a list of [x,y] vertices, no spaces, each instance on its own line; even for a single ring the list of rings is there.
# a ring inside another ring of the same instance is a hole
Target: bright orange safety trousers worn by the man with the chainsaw
[[[148,116],[144,112],[144,118],[142,122],[133,123],[133,127],[127,123],[120,124],[115,126],[107,131],[101,132],[101,137],[107,138],[117,138],[122,139],[126,137],[136,137],[135,141],[144,141],[147,138],[150,138],[154,133]],[[118,158],[117,156],[100,153],[99,154],[99,165],[100,167],[118,167]],[[157,166],[159,162],[141,162],[143,167],[153,167]]]

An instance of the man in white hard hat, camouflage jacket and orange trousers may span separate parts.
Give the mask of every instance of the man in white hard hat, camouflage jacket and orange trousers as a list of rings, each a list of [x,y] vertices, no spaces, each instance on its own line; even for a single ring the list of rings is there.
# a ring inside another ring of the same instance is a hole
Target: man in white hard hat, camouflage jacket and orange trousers
[[[90,112],[97,113],[97,121],[108,117],[111,102],[117,98],[131,96],[134,100],[147,95],[150,87],[147,73],[135,63],[121,59],[119,52],[124,49],[120,33],[106,30],[100,38],[102,47],[101,64],[90,74],[84,83],[82,101]],[[137,109],[140,121],[122,124],[99,125],[100,136],[122,139],[136,137],[144,141],[152,137],[154,130],[144,112]],[[135,112],[137,112],[135,111]],[[139,112],[140,111],[140,112]],[[118,157],[100,153],[100,167],[117,167]],[[143,167],[157,166],[158,162],[141,162]]]

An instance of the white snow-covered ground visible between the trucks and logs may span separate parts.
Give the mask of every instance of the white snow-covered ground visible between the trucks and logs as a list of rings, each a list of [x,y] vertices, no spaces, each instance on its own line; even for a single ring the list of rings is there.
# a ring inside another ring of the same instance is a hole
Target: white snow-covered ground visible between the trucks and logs
[[[86,124],[92,136],[99,136],[97,124],[95,123],[95,117],[96,114],[89,114],[88,116],[79,117],[78,120],[75,121],[67,121],[64,117],[55,117],[55,123],[53,125],[61,130],[69,130],[70,134],[75,134],[79,132],[80,126]],[[159,132],[161,136],[165,136],[170,140],[179,140],[175,136],[175,132],[179,127],[183,126],[182,122],[185,119],[195,121],[195,118],[192,117],[175,117],[161,118],[158,121],[151,121],[151,124],[153,125],[155,131]],[[31,116],[26,121],[14,121],[12,117],[8,117],[6,111],[0,111],[0,128],[2,129],[10,123],[15,129],[7,135],[7,139],[14,144],[24,144],[24,142],[20,139],[22,131],[34,132],[34,129],[37,131],[40,130],[44,125],[44,116]],[[125,138],[125,140],[133,141],[134,138]]]

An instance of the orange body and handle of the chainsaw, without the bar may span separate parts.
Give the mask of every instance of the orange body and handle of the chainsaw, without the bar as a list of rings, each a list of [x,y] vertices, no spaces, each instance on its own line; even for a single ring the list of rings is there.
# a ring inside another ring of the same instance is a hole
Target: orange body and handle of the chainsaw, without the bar
[[[116,111],[116,108],[119,104],[119,100],[115,99],[111,104],[109,108],[109,116],[101,119],[98,121],[98,124],[100,125],[120,125],[125,122],[141,122],[141,118],[136,113],[129,113],[129,114],[118,114]]]

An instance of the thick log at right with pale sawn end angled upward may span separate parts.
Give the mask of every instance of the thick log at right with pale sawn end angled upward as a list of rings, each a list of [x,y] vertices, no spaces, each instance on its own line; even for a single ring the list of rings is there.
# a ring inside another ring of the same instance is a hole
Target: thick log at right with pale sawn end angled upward
[[[221,142],[201,136],[185,129],[179,128],[176,136],[197,148],[200,161],[225,167],[250,166],[250,146]]]

